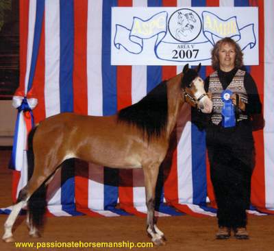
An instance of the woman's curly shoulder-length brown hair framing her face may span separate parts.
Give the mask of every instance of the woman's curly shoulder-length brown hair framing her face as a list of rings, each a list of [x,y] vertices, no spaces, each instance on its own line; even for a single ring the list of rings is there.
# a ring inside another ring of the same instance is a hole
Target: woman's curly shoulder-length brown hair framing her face
[[[240,49],[240,46],[238,45],[238,43],[236,43],[232,38],[223,38],[221,40],[219,40],[213,47],[212,51],[211,51],[211,64],[212,64],[212,68],[216,71],[220,69],[220,61],[219,61],[219,49],[221,47],[221,45],[224,44],[230,44],[233,45],[235,47],[235,51],[236,51],[236,58],[235,58],[235,67],[236,68],[240,68],[242,67],[242,50]]]

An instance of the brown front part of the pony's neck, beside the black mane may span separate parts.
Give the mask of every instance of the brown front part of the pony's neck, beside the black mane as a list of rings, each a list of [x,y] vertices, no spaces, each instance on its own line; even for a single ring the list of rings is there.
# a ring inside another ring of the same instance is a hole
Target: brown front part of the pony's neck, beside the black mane
[[[177,117],[179,112],[184,104],[184,97],[182,96],[182,73],[179,73],[175,77],[171,78],[169,82],[167,82],[167,97],[168,97],[168,121],[166,125],[166,133],[167,137],[171,136],[171,132],[173,131]]]

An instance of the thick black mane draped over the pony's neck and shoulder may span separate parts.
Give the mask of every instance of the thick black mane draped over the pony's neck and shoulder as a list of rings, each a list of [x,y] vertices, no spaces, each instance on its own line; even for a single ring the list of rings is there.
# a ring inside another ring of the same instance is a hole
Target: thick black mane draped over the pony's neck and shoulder
[[[160,136],[166,127],[167,115],[167,92],[164,81],[138,103],[120,110],[118,121],[136,125],[150,139],[151,136]]]

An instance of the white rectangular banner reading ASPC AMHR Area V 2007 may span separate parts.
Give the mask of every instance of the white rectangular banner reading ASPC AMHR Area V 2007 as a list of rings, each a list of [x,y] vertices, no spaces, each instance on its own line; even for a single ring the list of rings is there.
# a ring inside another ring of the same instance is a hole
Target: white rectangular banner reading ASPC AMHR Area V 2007
[[[216,41],[231,37],[258,64],[258,8],[112,8],[112,65],[211,64]]]

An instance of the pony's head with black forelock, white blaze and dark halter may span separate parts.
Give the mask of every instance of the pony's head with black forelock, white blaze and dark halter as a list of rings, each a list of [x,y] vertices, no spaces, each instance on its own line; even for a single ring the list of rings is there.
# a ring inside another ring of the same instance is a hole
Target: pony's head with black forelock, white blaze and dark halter
[[[182,90],[184,99],[191,106],[195,106],[204,113],[212,112],[212,101],[204,88],[204,82],[199,77],[201,63],[195,69],[188,68],[188,64],[184,66],[182,77]]]

